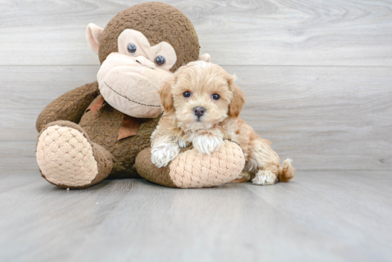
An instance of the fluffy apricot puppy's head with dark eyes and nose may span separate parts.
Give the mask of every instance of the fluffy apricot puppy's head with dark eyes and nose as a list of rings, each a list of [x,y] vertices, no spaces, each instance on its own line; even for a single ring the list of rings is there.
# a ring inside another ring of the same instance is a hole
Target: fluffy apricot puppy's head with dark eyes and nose
[[[210,129],[227,117],[238,117],[244,98],[234,80],[215,64],[188,63],[160,90],[165,114],[174,114],[187,130]]]

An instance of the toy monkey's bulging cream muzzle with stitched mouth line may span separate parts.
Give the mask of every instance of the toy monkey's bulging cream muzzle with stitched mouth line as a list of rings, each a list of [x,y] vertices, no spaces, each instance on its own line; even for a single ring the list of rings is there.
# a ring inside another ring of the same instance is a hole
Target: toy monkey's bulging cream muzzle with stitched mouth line
[[[150,69],[121,55],[110,53],[97,74],[100,94],[115,110],[138,118],[155,118],[163,112],[158,90],[170,72]],[[109,59],[110,58],[110,59]],[[125,59],[126,58],[126,59]]]

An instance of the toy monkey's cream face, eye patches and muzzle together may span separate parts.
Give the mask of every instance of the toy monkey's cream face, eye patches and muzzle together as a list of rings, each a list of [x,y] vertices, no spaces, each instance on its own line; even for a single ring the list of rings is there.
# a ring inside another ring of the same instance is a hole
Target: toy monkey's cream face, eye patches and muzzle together
[[[170,68],[176,61],[169,43],[150,46],[143,33],[125,29],[118,36],[118,52],[110,53],[100,66],[100,93],[126,115],[157,117],[163,111],[158,90],[172,78]]]

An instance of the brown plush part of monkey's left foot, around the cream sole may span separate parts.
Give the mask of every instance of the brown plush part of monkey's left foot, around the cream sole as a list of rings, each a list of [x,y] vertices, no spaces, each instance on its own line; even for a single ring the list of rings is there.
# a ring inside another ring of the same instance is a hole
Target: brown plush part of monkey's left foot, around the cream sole
[[[91,142],[86,131],[83,130],[83,128],[80,125],[77,125],[77,124],[75,124],[73,122],[69,122],[69,121],[51,122],[42,128],[38,137],[41,135],[43,130],[46,130],[46,128],[54,126],[54,125],[59,125],[61,127],[71,127],[73,129],[76,129],[76,130],[80,131],[81,133],[83,133],[84,137],[86,137],[88,142],[91,144],[91,147],[93,147],[93,156],[96,159],[96,162],[98,164],[98,174],[96,175],[96,178],[93,179],[93,181],[91,181],[90,184],[86,184],[81,187],[72,187],[72,186],[68,186],[68,185],[64,185],[64,184],[56,184],[56,186],[63,187],[63,188],[71,188],[71,189],[81,189],[81,188],[85,188],[85,187],[90,187],[93,184],[97,184],[97,183],[101,182],[103,179],[105,179],[106,177],[108,177],[108,175],[110,174],[110,171],[112,170],[112,167],[113,167],[112,155],[110,154],[110,152],[108,152],[108,150],[105,150],[105,148],[101,147],[100,145],[97,145],[94,142]],[[40,172],[41,172],[41,170],[40,170]],[[42,172],[41,172],[41,176],[46,179],[45,175],[42,174]],[[50,181],[48,181],[48,182],[53,184]]]

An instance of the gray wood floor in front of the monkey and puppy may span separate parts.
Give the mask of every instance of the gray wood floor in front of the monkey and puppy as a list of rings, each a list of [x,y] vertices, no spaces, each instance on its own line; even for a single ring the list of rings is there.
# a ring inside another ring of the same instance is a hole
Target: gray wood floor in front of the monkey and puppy
[[[142,179],[0,184],[1,261],[391,261],[391,172],[171,189]],[[34,179],[31,179],[34,177]]]

